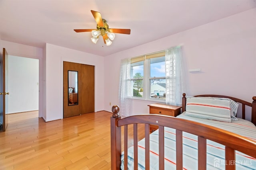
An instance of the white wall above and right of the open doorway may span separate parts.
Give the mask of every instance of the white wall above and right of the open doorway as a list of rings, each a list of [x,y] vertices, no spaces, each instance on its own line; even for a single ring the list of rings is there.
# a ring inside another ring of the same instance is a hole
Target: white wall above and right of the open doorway
[[[0,41],[1,53],[2,48],[5,48],[8,52],[8,55],[12,56],[20,56],[27,57],[32,59],[39,60],[39,112],[38,116],[42,117],[42,57],[43,57],[43,49],[38,47],[32,47],[29,45],[23,45],[18,43],[13,43],[9,41]]]

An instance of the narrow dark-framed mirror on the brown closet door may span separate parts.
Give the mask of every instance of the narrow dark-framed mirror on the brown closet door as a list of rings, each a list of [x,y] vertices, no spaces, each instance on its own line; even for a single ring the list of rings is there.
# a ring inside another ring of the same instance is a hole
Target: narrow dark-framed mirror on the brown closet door
[[[68,106],[78,104],[78,71],[68,70]]]

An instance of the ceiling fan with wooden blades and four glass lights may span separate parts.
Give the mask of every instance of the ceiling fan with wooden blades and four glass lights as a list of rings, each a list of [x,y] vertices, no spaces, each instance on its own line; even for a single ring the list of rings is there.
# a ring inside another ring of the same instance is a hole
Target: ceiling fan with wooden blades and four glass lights
[[[109,28],[107,21],[102,19],[100,12],[91,10],[92,15],[97,23],[96,29],[74,29],[77,33],[80,32],[91,32],[92,33],[92,42],[97,43],[98,37],[102,35],[104,43],[106,45],[111,45],[112,41],[115,38],[114,33],[121,33],[121,34],[130,34],[130,29],[118,29],[118,28]]]

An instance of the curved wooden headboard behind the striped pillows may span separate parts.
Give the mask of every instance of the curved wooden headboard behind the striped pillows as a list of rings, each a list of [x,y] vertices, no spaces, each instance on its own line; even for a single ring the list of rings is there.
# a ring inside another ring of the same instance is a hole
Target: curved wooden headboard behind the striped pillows
[[[182,112],[186,111],[186,94],[182,94]],[[204,94],[204,95],[197,95],[195,97],[216,97],[216,98],[230,98],[234,100],[235,102],[238,102],[242,104],[242,119],[245,119],[245,106],[250,106],[252,107],[252,123],[256,125],[256,96],[252,97],[252,103],[246,102],[244,100],[238,99],[238,98],[233,98],[230,96],[223,96],[223,95],[215,95],[215,94]]]

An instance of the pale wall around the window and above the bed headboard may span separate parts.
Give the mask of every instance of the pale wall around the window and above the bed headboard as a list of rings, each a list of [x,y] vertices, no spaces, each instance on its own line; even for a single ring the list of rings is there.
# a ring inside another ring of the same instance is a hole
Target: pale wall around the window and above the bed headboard
[[[188,94],[222,94],[248,102],[256,96],[256,8],[105,57],[105,103],[118,104],[120,61],[182,45]],[[170,23],[175,26],[175,23]],[[148,113],[149,101],[133,100],[133,113]]]

